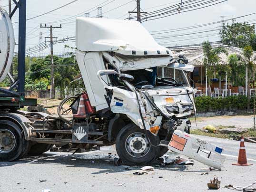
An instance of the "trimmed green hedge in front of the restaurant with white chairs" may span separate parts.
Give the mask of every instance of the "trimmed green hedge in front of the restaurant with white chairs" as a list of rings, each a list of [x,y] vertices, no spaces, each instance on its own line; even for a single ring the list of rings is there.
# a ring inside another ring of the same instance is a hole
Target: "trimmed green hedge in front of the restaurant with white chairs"
[[[226,111],[247,108],[247,96],[226,96],[226,97],[196,97],[198,112]],[[250,108],[254,107],[254,96],[250,98]]]

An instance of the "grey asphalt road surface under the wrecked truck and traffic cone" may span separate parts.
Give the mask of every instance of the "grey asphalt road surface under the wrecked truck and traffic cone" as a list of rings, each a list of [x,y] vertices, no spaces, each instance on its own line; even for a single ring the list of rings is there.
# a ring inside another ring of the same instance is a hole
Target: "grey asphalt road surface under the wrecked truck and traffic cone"
[[[232,192],[223,187],[228,184],[245,186],[256,180],[256,144],[246,143],[248,163],[253,165],[243,167],[231,165],[237,161],[239,142],[200,138],[225,148],[223,171],[209,171],[206,165],[198,162],[159,167],[156,161],[152,164],[154,171],[136,176],[132,173],[140,167],[126,170],[125,165],[115,166],[108,161],[108,153],[116,153],[110,146],[83,154],[48,152],[12,163],[0,163],[0,192],[42,192],[44,189],[51,192],[204,192],[208,191],[207,182],[214,177],[221,181],[218,191]],[[170,158],[177,156],[167,154]]]

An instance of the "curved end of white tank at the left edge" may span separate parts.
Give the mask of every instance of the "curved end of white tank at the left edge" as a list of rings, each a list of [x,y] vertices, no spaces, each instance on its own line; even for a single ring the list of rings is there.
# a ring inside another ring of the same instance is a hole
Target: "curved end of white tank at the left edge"
[[[14,52],[14,32],[8,13],[0,6],[0,82],[10,70]]]

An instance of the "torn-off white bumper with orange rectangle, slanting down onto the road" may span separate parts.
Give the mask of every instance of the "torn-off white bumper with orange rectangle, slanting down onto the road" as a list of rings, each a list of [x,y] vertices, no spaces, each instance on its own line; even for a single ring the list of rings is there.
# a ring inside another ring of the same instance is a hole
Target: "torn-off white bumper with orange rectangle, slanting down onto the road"
[[[168,145],[166,143],[160,145],[219,170],[226,160],[226,157],[221,155],[223,148],[179,130],[174,131]]]

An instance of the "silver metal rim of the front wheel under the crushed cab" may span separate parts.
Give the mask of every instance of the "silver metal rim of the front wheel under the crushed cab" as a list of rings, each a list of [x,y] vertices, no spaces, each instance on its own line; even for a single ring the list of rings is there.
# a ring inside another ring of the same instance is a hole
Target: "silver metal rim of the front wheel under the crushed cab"
[[[133,157],[144,157],[150,150],[150,144],[143,133],[130,134],[126,139],[126,151]]]

